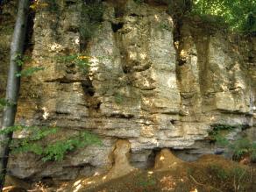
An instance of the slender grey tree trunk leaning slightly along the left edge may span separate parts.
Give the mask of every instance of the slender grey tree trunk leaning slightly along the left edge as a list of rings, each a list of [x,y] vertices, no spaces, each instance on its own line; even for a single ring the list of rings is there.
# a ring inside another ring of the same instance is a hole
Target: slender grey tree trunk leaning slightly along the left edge
[[[7,104],[4,107],[2,130],[13,126],[15,122],[20,83],[20,79],[16,76],[20,68],[17,64],[17,57],[24,52],[29,4],[30,0],[19,0],[18,3],[18,15],[11,41],[10,67],[6,86],[6,100],[10,104]],[[11,139],[12,133],[0,136],[0,191],[2,191],[4,187],[4,178],[6,174]]]

